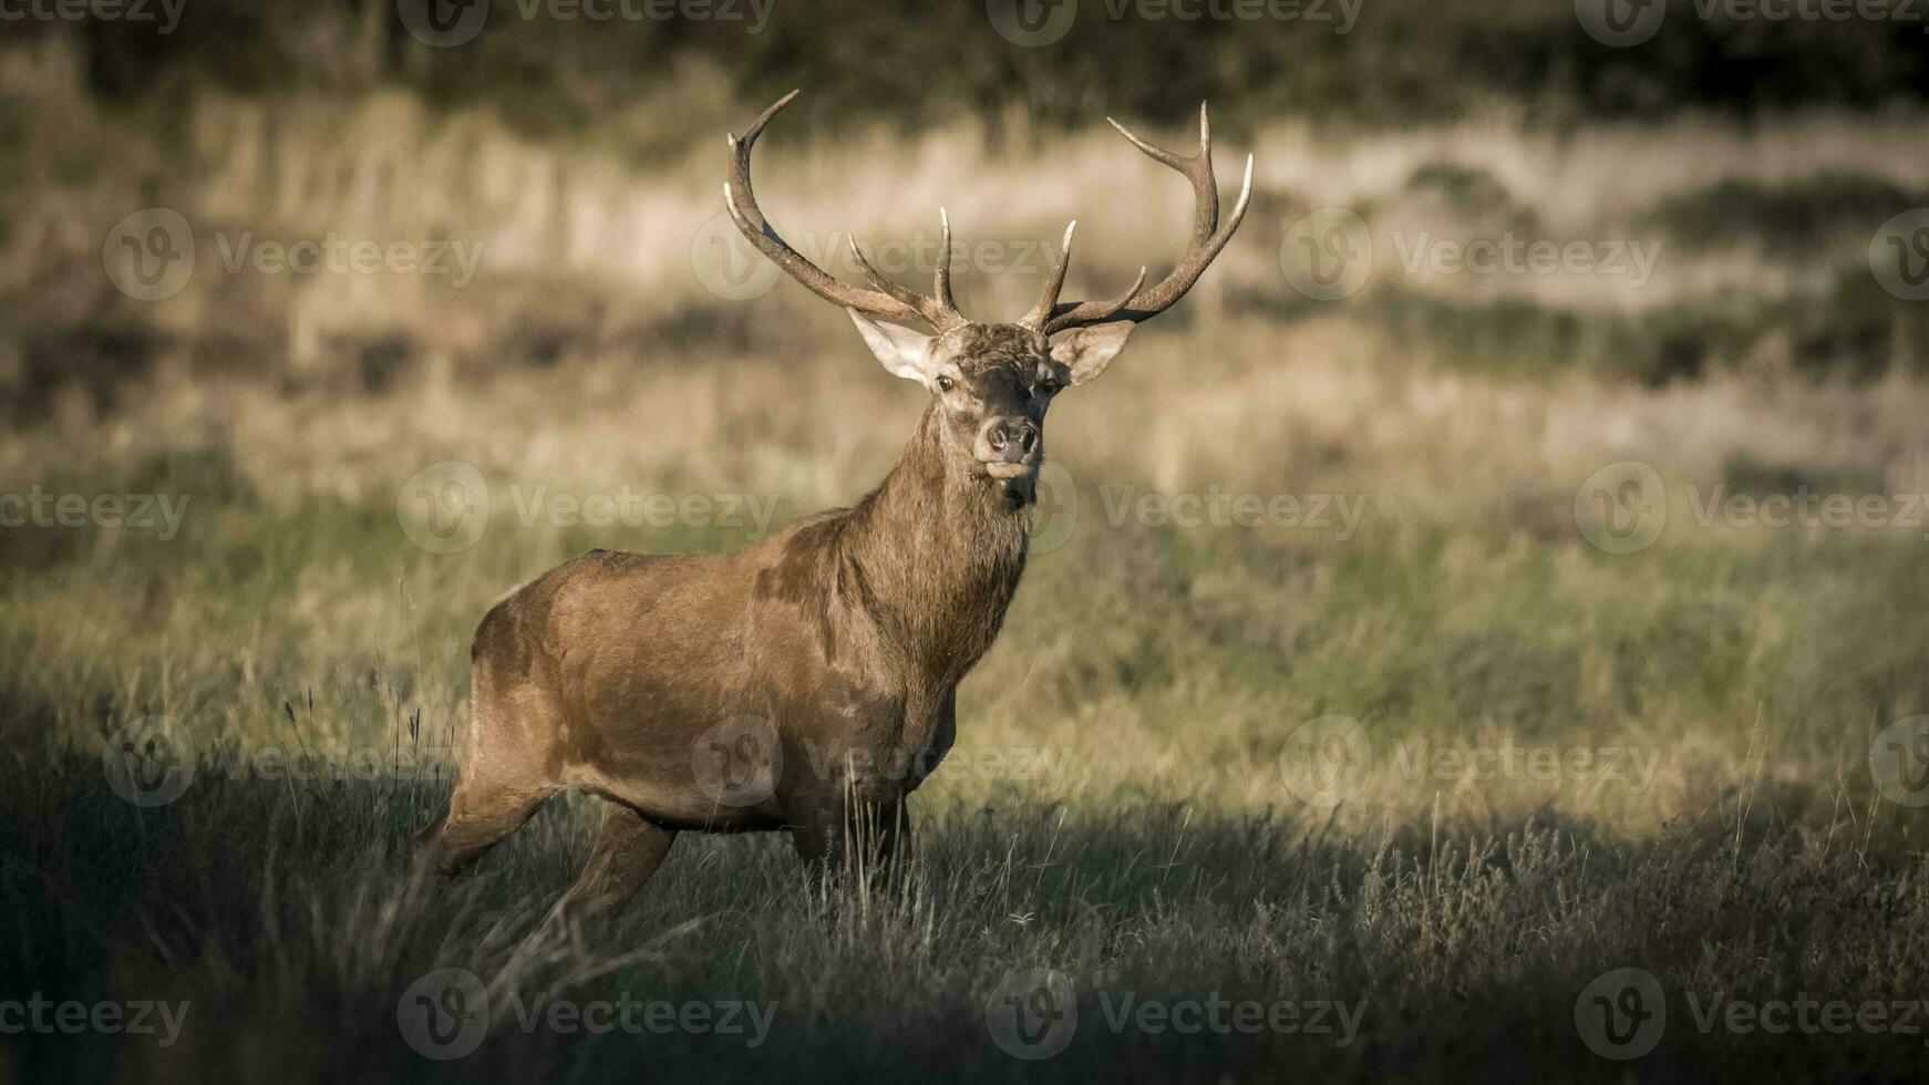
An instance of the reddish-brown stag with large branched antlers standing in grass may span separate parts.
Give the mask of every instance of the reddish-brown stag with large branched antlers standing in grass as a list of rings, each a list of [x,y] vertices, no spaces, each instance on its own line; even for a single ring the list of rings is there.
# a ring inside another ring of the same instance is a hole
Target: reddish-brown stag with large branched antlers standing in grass
[[[851,509],[725,555],[594,549],[496,603],[471,651],[461,779],[422,834],[444,875],[569,786],[604,800],[594,854],[565,896],[586,910],[627,900],[685,829],[787,829],[808,863],[839,865],[866,827],[866,854],[887,858],[905,798],[951,748],[959,680],[992,648],[1024,572],[1046,409],[1100,376],[1134,324],[1184,297],[1252,197],[1248,156],[1238,204],[1219,220],[1204,106],[1190,158],[1113,121],[1192,183],[1179,266],[1152,289],[1140,270],[1113,301],[1059,301],[1067,229],[1032,310],[978,324],[951,301],[949,220],[932,297],[878,274],[855,241],[870,289],[847,285],[770,227],[750,148],[795,96],[731,137],[725,206],[764,256],[845,306],[883,368],[922,384],[930,407],[897,466]]]

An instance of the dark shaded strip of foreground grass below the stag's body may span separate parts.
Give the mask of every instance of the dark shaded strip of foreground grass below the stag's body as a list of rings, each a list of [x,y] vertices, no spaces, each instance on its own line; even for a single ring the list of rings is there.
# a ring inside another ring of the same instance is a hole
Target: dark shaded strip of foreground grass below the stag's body
[[[1865,848],[1854,819],[1800,831],[1771,792],[1649,842],[1547,817],[1346,840],[1209,804],[1051,807],[1015,792],[932,804],[901,887],[812,887],[770,838],[687,838],[635,908],[575,929],[544,921],[586,852],[575,809],[546,811],[442,888],[411,881],[401,848],[440,786],[210,779],[137,811],[91,771],[10,771],[0,931],[23,952],[0,977],[187,1000],[183,1039],[122,1045],[118,1075],[602,1077],[642,1058],[652,1075],[785,1081],[1005,1081],[1020,1068],[1065,1081],[1607,1081],[1622,1068],[1582,1045],[1574,1002],[1615,967],[1645,967],[1667,991],[1644,1073],[1904,1077],[1921,1058],[1919,1037],[1694,1029],[1686,1000],[1713,992],[1861,1002],[1917,998],[1929,981],[1921,860]],[[494,1010],[486,1043],[455,1062],[419,1056],[395,1027],[401,992],[440,967],[476,973]],[[1005,977],[1038,967],[1071,979],[1078,1018],[1061,1054],[1024,1066],[988,1018]],[[1356,1008],[1358,1031],[1113,1031],[1125,994],[1335,1000]],[[758,1046],[525,1031],[513,1002],[623,996],[752,1000],[772,1025]],[[14,1068],[104,1075],[108,1054],[31,1039]]]

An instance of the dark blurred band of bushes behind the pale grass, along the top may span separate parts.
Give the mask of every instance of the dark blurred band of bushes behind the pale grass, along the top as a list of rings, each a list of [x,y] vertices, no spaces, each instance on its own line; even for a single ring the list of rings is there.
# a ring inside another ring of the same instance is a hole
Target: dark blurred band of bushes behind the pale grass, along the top
[[[390,85],[440,108],[496,106],[530,133],[588,131],[691,62],[714,66],[750,98],[810,87],[804,112],[820,123],[882,118],[905,129],[1013,110],[1053,125],[1103,112],[1181,121],[1200,98],[1219,102],[1227,131],[1238,133],[1281,116],[1439,123],[1495,102],[1568,125],[1929,96],[1919,21],[1703,19],[1692,0],[1663,0],[1669,15],[1640,48],[1580,35],[1570,4],[1537,0],[1364,0],[1346,33],[1312,19],[1119,19],[1115,2],[1067,0],[1078,17],[1046,48],[995,37],[976,0],[775,0],[754,35],[727,19],[521,19],[519,0],[478,2],[496,8],[482,35],[436,50],[413,40],[382,0],[193,0],[170,37],[141,23],[89,23],[89,87],[166,102],[199,87],[289,94]],[[1341,17],[1337,0],[1304,10]]]

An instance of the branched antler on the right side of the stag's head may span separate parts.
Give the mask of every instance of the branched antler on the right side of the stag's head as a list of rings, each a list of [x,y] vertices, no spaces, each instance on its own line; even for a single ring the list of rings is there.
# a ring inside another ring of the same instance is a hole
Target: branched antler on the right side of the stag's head
[[[1140,268],[1138,281],[1132,289],[1125,291],[1125,297],[1115,301],[1080,301],[1080,303],[1061,303],[1059,291],[1065,287],[1065,268],[1073,258],[1073,231],[1065,229],[1065,243],[1059,249],[1059,262],[1051,268],[1051,276],[1046,278],[1044,293],[1038,295],[1038,304],[1024,314],[1020,324],[1026,328],[1036,328],[1046,335],[1055,335],[1059,331],[1069,331],[1073,328],[1084,328],[1088,324],[1105,324],[1107,320],[1152,320],[1154,316],[1165,312],[1175,301],[1192,289],[1192,283],[1206,274],[1206,268],[1213,262],[1225,243],[1233,239],[1233,231],[1238,229],[1238,220],[1246,216],[1246,202],[1252,198],[1252,156],[1246,156],[1246,181],[1238,189],[1238,202],[1233,204],[1233,216],[1219,225],[1219,185],[1211,175],[1211,123],[1206,119],[1206,102],[1200,102],[1200,152],[1186,158],[1173,154],[1171,150],[1161,150],[1152,146],[1144,139],[1138,139],[1119,121],[1111,121],[1111,127],[1119,129],[1132,146],[1146,152],[1163,166],[1184,173],[1192,181],[1192,193],[1196,200],[1196,210],[1192,212],[1192,241],[1186,243],[1184,256],[1179,258],[1179,266],[1173,274],[1159,279],[1146,295],[1138,289],[1146,283],[1146,272]],[[1078,225],[1076,222],[1073,225]]]

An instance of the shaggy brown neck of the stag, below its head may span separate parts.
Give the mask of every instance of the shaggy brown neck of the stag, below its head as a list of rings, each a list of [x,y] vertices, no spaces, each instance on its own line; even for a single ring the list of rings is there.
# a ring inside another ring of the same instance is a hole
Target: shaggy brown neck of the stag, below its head
[[[1030,503],[949,453],[932,405],[891,474],[853,509],[851,528],[847,557],[866,609],[936,688],[957,684],[992,648],[1019,590]]]

